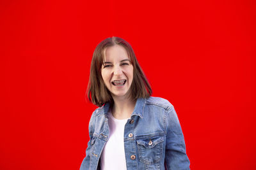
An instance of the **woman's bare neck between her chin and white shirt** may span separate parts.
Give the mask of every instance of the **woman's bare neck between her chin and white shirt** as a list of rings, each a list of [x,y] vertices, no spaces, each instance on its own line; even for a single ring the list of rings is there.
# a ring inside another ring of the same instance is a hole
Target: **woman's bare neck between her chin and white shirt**
[[[112,108],[112,115],[117,119],[124,119],[131,117],[134,110],[136,100],[127,97],[113,96],[114,104]]]

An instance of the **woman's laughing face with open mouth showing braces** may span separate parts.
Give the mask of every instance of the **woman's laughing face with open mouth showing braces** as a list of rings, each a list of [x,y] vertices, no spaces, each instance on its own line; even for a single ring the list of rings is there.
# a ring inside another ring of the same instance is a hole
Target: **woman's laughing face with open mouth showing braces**
[[[106,48],[101,67],[103,81],[113,97],[127,97],[132,84],[133,66],[123,46]]]

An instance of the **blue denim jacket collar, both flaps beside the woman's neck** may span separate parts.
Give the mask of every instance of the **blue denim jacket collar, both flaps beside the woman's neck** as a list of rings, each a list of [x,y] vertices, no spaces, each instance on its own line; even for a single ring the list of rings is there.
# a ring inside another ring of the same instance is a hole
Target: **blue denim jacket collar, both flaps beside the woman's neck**
[[[135,108],[134,108],[134,110],[132,112],[131,117],[133,115],[138,115],[139,117],[143,118],[143,113],[144,113],[144,108],[145,108],[146,100],[147,99],[143,99],[143,98],[137,99],[136,104],[135,104]],[[99,116],[102,113],[104,113],[104,115],[106,115],[108,113],[109,106],[110,106],[109,103],[104,104],[104,106],[102,106],[100,108],[100,111],[96,114],[96,116]]]

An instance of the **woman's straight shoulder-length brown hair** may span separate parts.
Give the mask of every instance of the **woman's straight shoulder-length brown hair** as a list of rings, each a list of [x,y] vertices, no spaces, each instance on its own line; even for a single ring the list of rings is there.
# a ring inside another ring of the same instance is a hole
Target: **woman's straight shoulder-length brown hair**
[[[148,98],[152,94],[152,89],[148,80],[143,73],[143,70],[136,59],[131,45],[122,38],[112,37],[106,38],[96,46],[91,63],[90,78],[87,87],[88,99],[97,106],[102,106],[105,103],[113,103],[111,93],[107,89],[101,75],[101,67],[104,62],[104,51],[109,46],[123,46],[131,60],[133,66],[133,80],[129,89],[129,94],[132,99]]]

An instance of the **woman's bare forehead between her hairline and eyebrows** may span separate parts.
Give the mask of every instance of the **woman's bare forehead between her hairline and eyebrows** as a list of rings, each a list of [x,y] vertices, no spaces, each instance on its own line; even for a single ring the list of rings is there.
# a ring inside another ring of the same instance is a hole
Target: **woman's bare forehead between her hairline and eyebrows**
[[[113,46],[108,46],[104,50],[104,61],[118,61],[118,60],[124,60],[124,59],[129,59],[128,53],[124,46],[121,45],[113,45]]]

